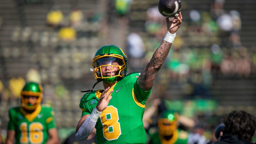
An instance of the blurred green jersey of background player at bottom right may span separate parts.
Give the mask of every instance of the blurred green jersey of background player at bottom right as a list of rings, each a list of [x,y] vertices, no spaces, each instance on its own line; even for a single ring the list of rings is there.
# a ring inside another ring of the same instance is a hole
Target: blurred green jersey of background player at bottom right
[[[158,132],[150,135],[150,144],[187,144],[188,132],[177,129],[172,138],[169,140],[164,139]]]

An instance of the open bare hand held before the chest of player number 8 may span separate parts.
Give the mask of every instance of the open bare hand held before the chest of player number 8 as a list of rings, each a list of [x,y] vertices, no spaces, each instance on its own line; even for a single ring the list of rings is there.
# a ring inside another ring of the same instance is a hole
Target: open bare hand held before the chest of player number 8
[[[96,105],[96,109],[99,112],[102,112],[103,110],[105,110],[108,106],[109,101],[111,100],[112,96],[110,96],[113,92],[113,90],[109,91],[107,93],[107,91],[110,89],[110,87],[108,87],[106,90],[104,90],[101,94],[101,97]]]

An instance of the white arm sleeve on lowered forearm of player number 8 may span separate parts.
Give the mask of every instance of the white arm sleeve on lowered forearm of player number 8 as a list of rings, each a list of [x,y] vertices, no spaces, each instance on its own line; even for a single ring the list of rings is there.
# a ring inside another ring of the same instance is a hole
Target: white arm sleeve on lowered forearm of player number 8
[[[101,112],[98,112],[96,108],[92,111],[89,117],[87,117],[79,128],[78,132],[75,134],[76,139],[82,141],[86,140],[94,129],[98,117],[100,117]]]

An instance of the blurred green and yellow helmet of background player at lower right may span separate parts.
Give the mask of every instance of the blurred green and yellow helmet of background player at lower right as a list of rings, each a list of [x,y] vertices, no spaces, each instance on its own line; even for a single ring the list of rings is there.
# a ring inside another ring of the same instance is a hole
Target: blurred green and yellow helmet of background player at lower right
[[[178,113],[165,110],[158,119],[159,134],[172,135],[178,127]]]

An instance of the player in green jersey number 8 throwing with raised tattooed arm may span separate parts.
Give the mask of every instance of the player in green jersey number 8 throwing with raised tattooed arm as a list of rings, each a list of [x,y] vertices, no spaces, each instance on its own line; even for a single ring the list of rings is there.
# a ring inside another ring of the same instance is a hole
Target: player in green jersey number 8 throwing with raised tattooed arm
[[[110,45],[97,50],[92,69],[96,84],[102,81],[105,90],[92,89],[81,98],[82,117],[75,134],[78,140],[86,139],[95,127],[98,144],[146,143],[142,122],[145,103],[180,27],[181,13],[173,21],[166,18],[166,22],[166,36],[141,74],[127,74],[127,57],[121,48]]]

